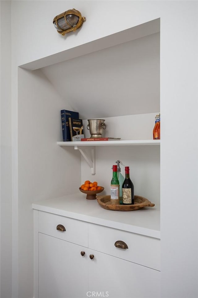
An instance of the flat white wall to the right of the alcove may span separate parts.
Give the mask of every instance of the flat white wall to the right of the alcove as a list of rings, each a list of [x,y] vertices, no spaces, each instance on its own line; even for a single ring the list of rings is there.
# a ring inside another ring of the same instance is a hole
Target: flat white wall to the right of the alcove
[[[161,18],[162,297],[198,296],[197,12],[172,2]],[[176,120],[178,129],[173,132]],[[188,208],[189,204],[193,207]]]

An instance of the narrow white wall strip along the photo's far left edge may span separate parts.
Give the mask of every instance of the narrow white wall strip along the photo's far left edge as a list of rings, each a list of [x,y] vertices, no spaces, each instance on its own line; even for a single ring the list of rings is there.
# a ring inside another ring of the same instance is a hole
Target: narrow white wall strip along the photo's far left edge
[[[0,226],[1,254],[0,296],[11,297],[12,268],[12,176],[11,176],[11,2],[0,2],[1,34],[1,177],[0,177]]]

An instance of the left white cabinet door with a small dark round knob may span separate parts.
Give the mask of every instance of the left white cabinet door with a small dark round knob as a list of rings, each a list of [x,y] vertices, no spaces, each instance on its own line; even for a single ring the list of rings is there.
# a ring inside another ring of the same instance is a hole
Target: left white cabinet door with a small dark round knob
[[[88,256],[83,246],[39,233],[39,298],[84,298]]]

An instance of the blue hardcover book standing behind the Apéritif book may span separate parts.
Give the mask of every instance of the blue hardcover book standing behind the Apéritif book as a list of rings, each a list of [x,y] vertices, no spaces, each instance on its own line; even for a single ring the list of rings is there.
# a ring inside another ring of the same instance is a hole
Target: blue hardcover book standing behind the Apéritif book
[[[62,123],[62,140],[63,142],[71,141],[69,121],[68,118],[79,118],[79,113],[68,110],[61,110],[61,123]]]

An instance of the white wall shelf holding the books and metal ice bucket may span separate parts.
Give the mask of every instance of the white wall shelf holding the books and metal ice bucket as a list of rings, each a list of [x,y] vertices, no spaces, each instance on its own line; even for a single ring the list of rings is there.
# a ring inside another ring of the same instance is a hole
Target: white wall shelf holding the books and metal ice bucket
[[[160,140],[120,140],[120,141],[57,142],[57,145],[59,145],[59,146],[160,145]]]

